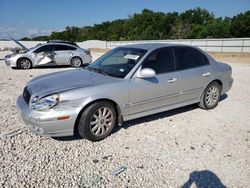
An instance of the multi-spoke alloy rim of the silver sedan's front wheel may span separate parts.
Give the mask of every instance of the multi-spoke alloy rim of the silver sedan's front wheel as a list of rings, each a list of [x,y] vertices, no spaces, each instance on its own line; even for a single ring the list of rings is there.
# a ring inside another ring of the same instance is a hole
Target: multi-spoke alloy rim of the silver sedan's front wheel
[[[95,111],[90,119],[90,131],[96,136],[107,133],[113,123],[113,112],[108,107],[101,107]]]

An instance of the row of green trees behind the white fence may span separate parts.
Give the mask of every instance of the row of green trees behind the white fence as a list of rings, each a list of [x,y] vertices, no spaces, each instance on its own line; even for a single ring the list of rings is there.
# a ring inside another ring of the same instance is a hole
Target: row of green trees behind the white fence
[[[250,11],[233,18],[215,18],[201,8],[163,13],[144,9],[128,19],[107,21],[94,26],[66,27],[50,36],[27,37],[21,40],[162,40],[188,38],[250,37]]]

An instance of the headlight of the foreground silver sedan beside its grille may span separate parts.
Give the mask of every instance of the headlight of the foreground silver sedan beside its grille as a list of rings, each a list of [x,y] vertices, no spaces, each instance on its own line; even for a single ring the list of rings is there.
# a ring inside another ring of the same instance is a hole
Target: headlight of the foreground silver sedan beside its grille
[[[47,110],[59,103],[59,94],[52,94],[39,99],[35,97],[31,100],[31,108],[35,110]]]

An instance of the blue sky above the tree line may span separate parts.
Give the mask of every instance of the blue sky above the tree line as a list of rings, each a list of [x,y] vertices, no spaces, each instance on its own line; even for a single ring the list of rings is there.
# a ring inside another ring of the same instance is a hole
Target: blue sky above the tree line
[[[144,8],[184,12],[196,7],[216,17],[250,10],[250,0],[0,0],[0,39],[48,35],[66,26],[87,26],[128,18]]]

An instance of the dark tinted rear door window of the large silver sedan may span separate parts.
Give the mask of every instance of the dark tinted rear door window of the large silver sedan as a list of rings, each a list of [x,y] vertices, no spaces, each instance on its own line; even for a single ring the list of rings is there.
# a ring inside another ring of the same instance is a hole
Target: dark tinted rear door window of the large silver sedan
[[[174,47],[174,54],[178,70],[200,67],[207,64],[204,54],[195,48]]]

